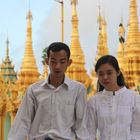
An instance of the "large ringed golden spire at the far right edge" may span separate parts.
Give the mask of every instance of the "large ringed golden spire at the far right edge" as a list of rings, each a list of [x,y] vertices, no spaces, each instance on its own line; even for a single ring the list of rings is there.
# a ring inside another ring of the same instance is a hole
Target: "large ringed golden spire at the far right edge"
[[[130,16],[125,53],[127,54],[125,55],[126,82],[130,88],[135,89],[137,78],[140,74],[140,32],[136,0],[130,0]]]

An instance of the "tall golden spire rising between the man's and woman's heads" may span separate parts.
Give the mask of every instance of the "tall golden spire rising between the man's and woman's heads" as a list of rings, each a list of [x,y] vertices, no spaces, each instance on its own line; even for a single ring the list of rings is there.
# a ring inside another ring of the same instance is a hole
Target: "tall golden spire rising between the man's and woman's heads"
[[[72,4],[72,39],[71,39],[71,59],[73,60],[72,65],[67,70],[68,77],[80,81],[85,84],[88,92],[90,92],[91,79],[85,69],[84,53],[82,51],[79,33],[78,33],[78,17],[76,11],[77,0],[71,0]]]

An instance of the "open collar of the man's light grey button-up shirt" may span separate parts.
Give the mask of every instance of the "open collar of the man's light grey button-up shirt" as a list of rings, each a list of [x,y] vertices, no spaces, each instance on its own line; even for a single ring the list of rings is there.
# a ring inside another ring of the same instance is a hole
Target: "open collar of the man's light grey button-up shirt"
[[[45,86],[45,85],[49,85],[49,76],[44,80],[44,82],[41,84],[41,86]],[[64,83],[63,85],[65,85],[66,87],[70,87],[70,79],[68,77],[65,76],[64,78]]]

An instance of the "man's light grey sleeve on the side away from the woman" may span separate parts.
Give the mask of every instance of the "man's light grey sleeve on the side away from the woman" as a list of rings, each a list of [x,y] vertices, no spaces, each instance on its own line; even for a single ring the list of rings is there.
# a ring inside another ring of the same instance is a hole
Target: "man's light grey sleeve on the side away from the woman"
[[[28,88],[9,131],[8,140],[26,140],[35,115],[31,87]]]

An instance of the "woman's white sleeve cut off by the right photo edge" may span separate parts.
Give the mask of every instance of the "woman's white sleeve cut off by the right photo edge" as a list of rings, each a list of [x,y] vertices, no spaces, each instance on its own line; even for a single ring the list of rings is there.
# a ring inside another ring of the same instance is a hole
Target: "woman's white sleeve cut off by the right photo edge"
[[[140,95],[134,97],[132,114],[132,140],[140,140]]]

